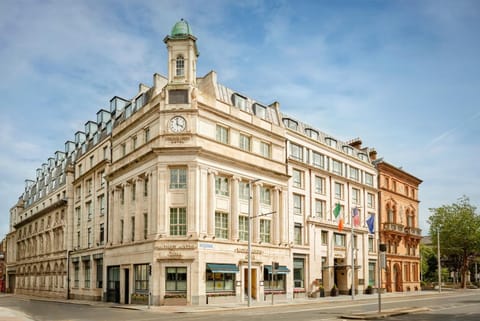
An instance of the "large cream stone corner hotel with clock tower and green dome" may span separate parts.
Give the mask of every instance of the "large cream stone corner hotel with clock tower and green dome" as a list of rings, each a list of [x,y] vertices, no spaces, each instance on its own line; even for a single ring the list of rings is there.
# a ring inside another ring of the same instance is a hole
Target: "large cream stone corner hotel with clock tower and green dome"
[[[178,22],[168,75],[113,97],[27,181],[7,235],[16,293],[202,305],[376,284],[373,150],[197,77],[196,40]]]

